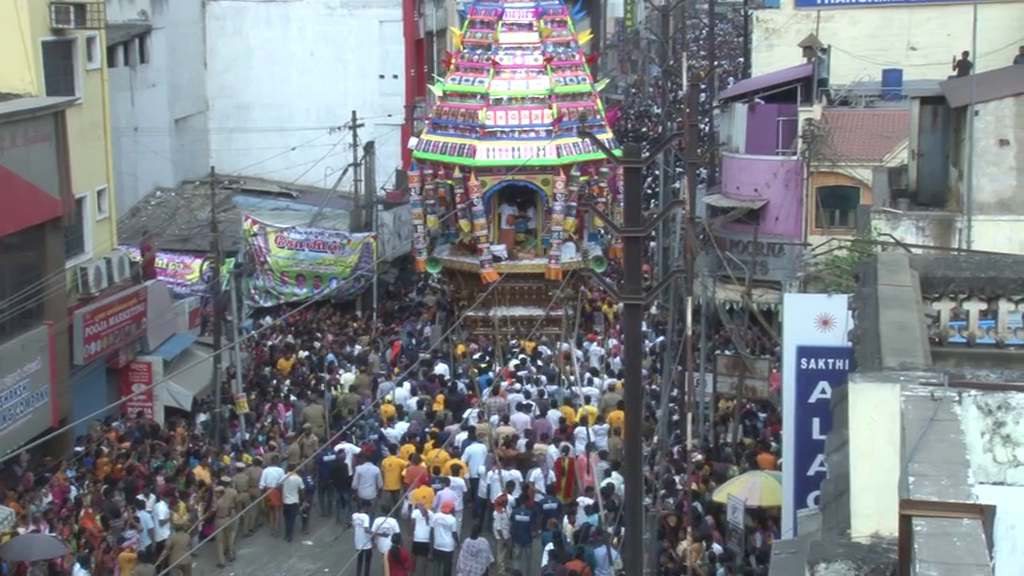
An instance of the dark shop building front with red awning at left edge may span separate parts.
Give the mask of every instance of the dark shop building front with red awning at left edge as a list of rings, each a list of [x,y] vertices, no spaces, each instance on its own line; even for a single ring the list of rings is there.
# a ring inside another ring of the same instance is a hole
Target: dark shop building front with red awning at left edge
[[[2,27],[0,27],[2,29]],[[0,451],[68,417],[65,250],[74,229],[67,115],[75,97],[0,98]]]

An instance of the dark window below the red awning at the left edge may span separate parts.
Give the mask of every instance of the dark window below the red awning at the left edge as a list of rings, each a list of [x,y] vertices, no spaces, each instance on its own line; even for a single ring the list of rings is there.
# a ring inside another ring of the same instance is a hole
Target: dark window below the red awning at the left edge
[[[0,342],[43,322],[45,251],[44,224],[0,237]]]

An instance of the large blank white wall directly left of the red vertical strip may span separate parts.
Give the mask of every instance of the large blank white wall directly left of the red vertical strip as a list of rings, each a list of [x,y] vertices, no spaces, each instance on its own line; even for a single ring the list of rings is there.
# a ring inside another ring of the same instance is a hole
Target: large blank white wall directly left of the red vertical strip
[[[354,110],[360,140],[377,141],[378,186],[392,180],[406,88],[398,0],[222,0],[206,11],[218,172],[331,186],[351,162]]]

